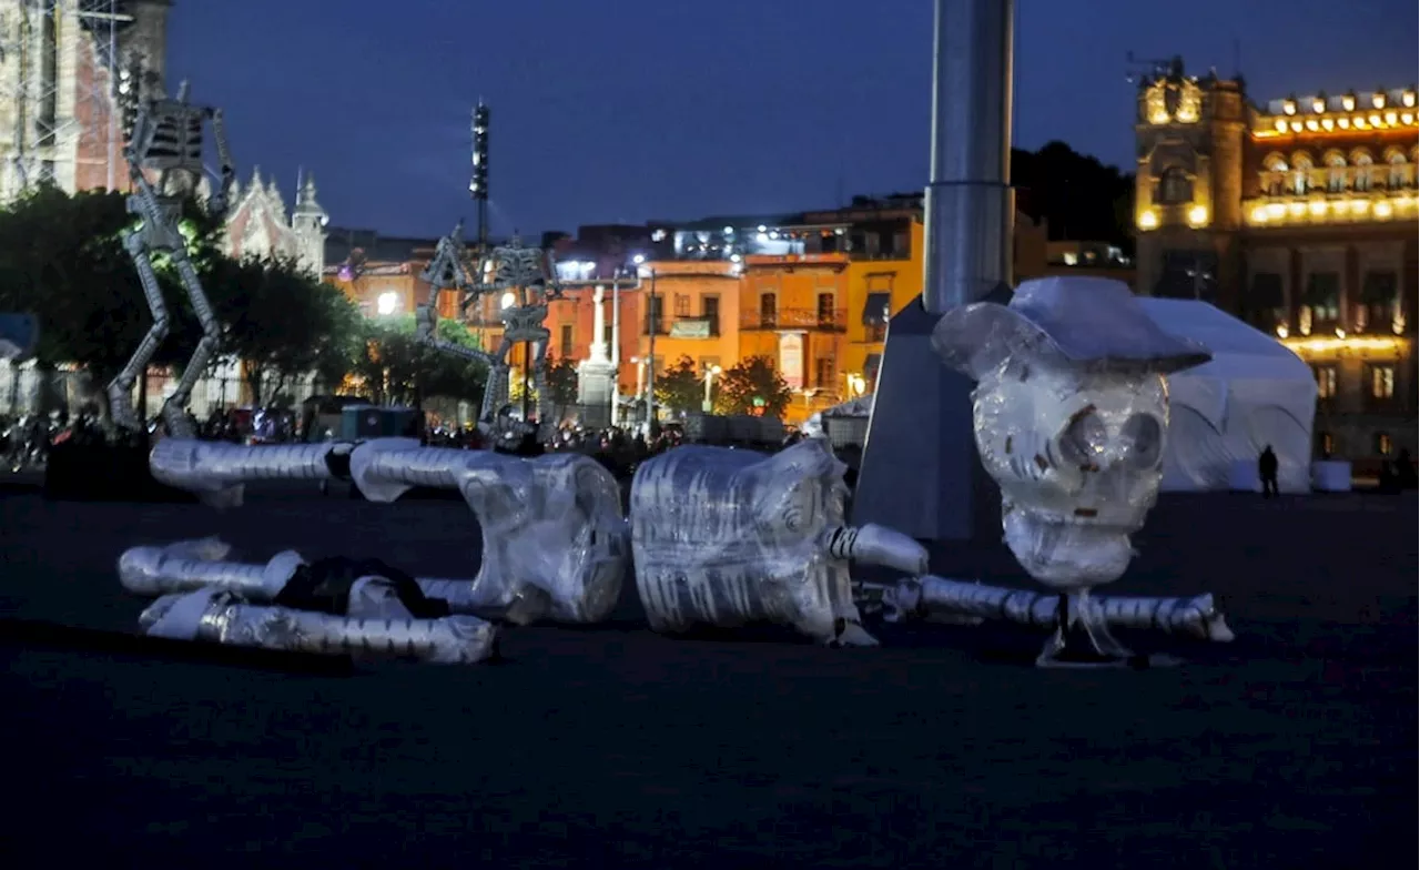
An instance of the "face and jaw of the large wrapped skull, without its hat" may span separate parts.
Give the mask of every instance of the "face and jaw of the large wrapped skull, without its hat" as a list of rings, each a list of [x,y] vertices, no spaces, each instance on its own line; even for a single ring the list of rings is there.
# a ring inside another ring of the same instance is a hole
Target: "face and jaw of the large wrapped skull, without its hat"
[[[1163,377],[1008,361],[973,398],[977,449],[1001,486],[1015,559],[1048,586],[1118,580],[1129,536],[1159,495]]]

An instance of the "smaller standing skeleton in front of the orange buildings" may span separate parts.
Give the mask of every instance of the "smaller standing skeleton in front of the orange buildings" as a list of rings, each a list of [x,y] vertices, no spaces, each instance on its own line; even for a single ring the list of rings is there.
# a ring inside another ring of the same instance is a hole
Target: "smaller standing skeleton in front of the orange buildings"
[[[545,425],[550,422],[548,409],[551,408],[547,391],[547,345],[552,334],[542,326],[542,321],[547,320],[548,303],[562,296],[551,254],[535,247],[524,247],[518,239],[513,239],[508,245],[494,247],[488,257],[479,264],[480,280],[477,281],[470,279],[464,259],[463,225],[460,223],[454,226],[452,233],[439,239],[433,259],[419,274],[419,279],[429,284],[429,301],[420,304],[415,311],[415,337],[443,353],[476,360],[488,367],[488,382],[483,390],[479,428],[486,435],[493,436],[531,431],[527,421],[513,424],[506,412],[510,387],[508,353],[515,344],[527,343],[532,348],[530,368],[538,395],[537,418]],[[493,280],[484,281],[484,276],[490,273]],[[498,317],[503,320],[503,340],[491,354],[444,341],[439,335],[439,297],[450,290],[459,294],[460,310],[467,310],[486,294],[496,294],[500,304],[506,294],[513,294],[513,304],[501,306],[498,311]]]

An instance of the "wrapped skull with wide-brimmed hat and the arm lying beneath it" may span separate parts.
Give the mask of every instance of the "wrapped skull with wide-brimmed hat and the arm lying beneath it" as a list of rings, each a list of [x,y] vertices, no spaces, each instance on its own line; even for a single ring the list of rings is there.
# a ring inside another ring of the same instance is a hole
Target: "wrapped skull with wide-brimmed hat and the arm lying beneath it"
[[[1055,590],[1054,607],[970,583],[899,584],[889,606],[1054,624],[1037,664],[1136,661],[1109,624],[1154,625],[1210,640],[1231,633],[1208,596],[1096,600],[1118,580],[1159,495],[1169,394],[1163,375],[1210,360],[1169,335],[1129,289],[1098,279],[1027,281],[1010,306],[943,316],[933,347],[977,381],[977,449],[1001,486],[1003,530],[1017,562]],[[1049,617],[1047,617],[1049,614]]]

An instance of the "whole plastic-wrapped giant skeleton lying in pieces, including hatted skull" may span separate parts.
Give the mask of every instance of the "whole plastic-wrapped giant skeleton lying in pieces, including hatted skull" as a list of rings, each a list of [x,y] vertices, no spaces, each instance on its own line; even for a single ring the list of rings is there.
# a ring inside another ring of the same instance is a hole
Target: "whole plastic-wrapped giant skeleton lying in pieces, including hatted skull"
[[[1072,306],[1093,324],[1072,317]],[[219,506],[240,505],[246,482],[273,478],[349,479],[375,502],[412,486],[454,489],[479,520],[483,563],[466,580],[409,577],[381,563],[305,564],[294,552],[266,564],[226,562],[227,547],[206,540],[128,550],[119,579],[129,591],[160,596],[141,617],[149,633],[444,662],[490,655],[493,621],[602,621],[632,570],[662,633],[770,621],[821,643],[873,645],[851,563],[906,574],[876,587],[897,618],[1001,617],[1054,628],[1042,665],[1129,660],[1112,624],[1230,640],[1208,596],[1089,594],[1127,566],[1129,535],[1159,489],[1167,422],[1160,372],[1207,358],[1143,320],[1122,286],[1037,281],[1008,307],[968,306],[937,327],[947,364],[980,381],[977,442],[1003,486],[1005,542],[1058,594],[933,577],[917,542],[846,525],[845,468],[818,439],[770,456],[709,446],[655,456],[636,471],[629,523],[616,480],[574,453],[520,459],[409,439],[166,439],[153,449],[153,475]],[[1072,638],[1082,640],[1081,654]]]

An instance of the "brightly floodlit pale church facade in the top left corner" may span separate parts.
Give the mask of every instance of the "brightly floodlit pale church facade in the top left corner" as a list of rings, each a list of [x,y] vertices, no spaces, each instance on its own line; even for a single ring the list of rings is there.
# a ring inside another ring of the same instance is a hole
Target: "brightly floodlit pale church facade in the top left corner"
[[[118,189],[121,0],[0,0],[0,202],[37,183]]]

